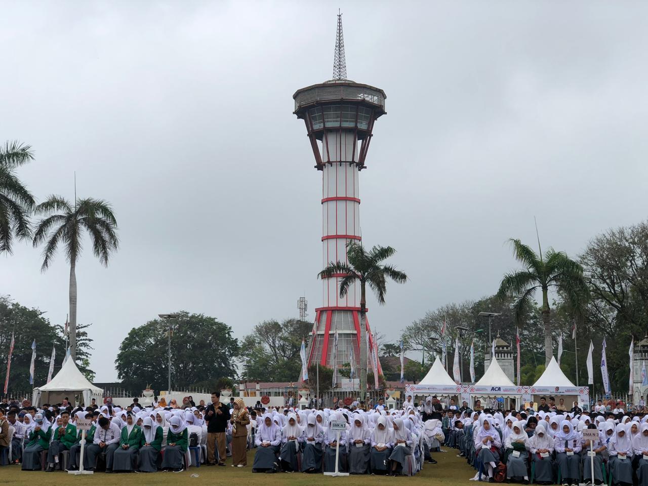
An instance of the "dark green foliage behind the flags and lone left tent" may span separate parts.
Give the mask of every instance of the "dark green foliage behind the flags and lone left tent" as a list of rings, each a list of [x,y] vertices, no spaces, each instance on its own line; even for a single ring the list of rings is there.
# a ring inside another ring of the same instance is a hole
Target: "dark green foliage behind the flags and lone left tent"
[[[14,353],[11,360],[9,376],[9,391],[30,391],[35,386],[43,386],[47,382],[49,360],[52,346],[56,349],[54,372],[61,369],[65,357],[65,339],[63,327],[52,325],[43,316],[45,312],[38,308],[28,308],[12,301],[9,297],[0,295],[0,382],[5,382],[6,360],[9,351],[11,335],[14,333]],[[86,325],[81,325],[79,355],[83,361],[89,358],[92,340],[87,338]],[[32,359],[32,341],[36,340],[36,361],[34,362],[34,384],[29,384],[29,366]],[[89,365],[78,364],[86,377],[92,381],[94,372]],[[11,394],[11,393],[10,393]]]

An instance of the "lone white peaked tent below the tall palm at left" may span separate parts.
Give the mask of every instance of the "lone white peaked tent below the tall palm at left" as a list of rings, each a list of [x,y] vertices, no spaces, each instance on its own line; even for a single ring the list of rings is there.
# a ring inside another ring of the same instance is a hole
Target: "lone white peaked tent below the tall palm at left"
[[[42,403],[60,403],[65,397],[70,399],[73,404],[78,404],[80,400],[75,399],[75,395],[81,395],[78,398],[83,399],[84,405],[89,406],[91,399],[100,399],[104,391],[91,384],[76,367],[75,360],[68,358],[65,360],[60,371],[52,378],[52,381],[39,388],[34,388],[33,404],[34,406]]]

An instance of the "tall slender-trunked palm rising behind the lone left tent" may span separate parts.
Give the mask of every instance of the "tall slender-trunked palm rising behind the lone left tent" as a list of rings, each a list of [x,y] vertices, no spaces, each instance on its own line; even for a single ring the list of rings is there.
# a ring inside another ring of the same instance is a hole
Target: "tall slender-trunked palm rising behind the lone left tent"
[[[49,196],[47,201],[34,209],[45,217],[36,225],[34,247],[45,243],[43,265],[45,272],[51,263],[59,243],[65,246],[70,264],[70,354],[76,358],[76,262],[82,251],[84,229],[90,235],[95,257],[108,266],[110,255],[117,250],[117,221],[110,204],[93,198],[80,199],[71,205],[61,196]]]

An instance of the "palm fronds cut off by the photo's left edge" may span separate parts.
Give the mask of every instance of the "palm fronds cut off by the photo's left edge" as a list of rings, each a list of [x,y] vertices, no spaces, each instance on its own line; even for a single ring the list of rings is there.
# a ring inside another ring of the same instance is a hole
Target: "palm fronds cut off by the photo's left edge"
[[[33,159],[30,145],[14,141],[0,146],[0,253],[12,253],[14,236],[32,236],[29,215],[36,202],[14,169]]]

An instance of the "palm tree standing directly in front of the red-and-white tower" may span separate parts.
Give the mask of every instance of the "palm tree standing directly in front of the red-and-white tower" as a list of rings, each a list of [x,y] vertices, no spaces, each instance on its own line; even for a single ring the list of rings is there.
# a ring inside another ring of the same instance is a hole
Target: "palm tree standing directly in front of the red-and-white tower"
[[[320,279],[340,277],[340,297],[345,297],[351,284],[360,282],[360,397],[365,399],[367,392],[367,299],[365,288],[367,284],[373,290],[380,305],[385,303],[387,292],[386,277],[396,283],[405,283],[407,275],[396,270],[391,265],[383,265],[382,261],[396,253],[391,246],[374,246],[366,251],[362,244],[349,241],[347,244],[347,262],[330,262],[327,268],[319,272]]]

